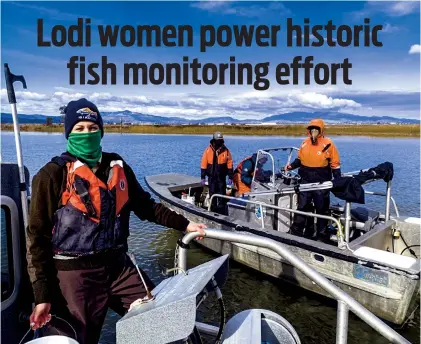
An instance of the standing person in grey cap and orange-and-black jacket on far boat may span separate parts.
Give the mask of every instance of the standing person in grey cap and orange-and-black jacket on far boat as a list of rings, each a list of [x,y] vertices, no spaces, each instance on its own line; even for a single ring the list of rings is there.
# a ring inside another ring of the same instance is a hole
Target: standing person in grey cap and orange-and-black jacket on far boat
[[[208,177],[209,196],[213,194],[226,195],[228,176],[228,185],[232,186],[233,168],[232,155],[225,146],[224,137],[217,131],[209,146],[205,149],[200,164],[200,175],[202,185],[206,183]],[[225,201],[217,198],[212,202],[213,211],[224,213]]]

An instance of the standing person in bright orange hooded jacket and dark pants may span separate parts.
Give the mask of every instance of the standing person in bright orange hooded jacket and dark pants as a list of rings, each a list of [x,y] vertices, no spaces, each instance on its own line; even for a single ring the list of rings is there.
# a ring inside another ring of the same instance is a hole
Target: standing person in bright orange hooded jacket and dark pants
[[[298,174],[301,176],[301,183],[318,183],[330,181],[341,176],[341,163],[338,150],[331,139],[324,136],[325,124],[322,119],[310,121],[306,138],[298,151],[298,158],[286,170],[299,168]],[[301,211],[311,211],[312,205],[317,214],[329,215],[330,190],[316,190],[300,192],[298,194],[297,209]],[[305,229],[307,217],[295,214],[294,222],[291,225],[291,234],[313,237],[312,228]],[[313,223],[312,218],[309,221]],[[317,235],[323,235],[327,220],[317,219]]]

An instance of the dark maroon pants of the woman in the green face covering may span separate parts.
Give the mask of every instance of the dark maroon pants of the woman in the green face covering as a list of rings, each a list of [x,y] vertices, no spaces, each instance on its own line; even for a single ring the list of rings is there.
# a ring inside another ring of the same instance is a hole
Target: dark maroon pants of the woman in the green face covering
[[[153,282],[141,272],[152,290]],[[65,303],[57,314],[72,324],[80,344],[98,343],[108,307],[123,316],[132,302],[146,295],[135,266],[124,253],[99,268],[59,270],[57,277]],[[68,328],[63,332],[74,338]]]

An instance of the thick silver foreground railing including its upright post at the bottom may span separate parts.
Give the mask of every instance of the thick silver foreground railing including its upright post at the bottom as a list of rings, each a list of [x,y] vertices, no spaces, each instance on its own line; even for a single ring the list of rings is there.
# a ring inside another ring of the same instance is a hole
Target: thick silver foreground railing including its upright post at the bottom
[[[179,273],[187,271],[187,245],[195,238],[199,237],[200,233],[187,233],[182,243],[178,247],[178,262],[177,268]],[[284,245],[269,238],[261,238],[255,235],[246,233],[235,233],[229,231],[206,229],[205,237],[211,239],[218,239],[223,241],[241,243],[246,245],[253,245],[257,247],[267,248],[279,254],[283,259],[288,261],[292,266],[301,271],[305,276],[310,278],[313,283],[320,286],[323,290],[329,293],[337,302],[337,320],[336,320],[336,343],[346,344],[348,340],[348,317],[351,310],[361,320],[371,326],[384,338],[391,343],[410,343],[399,333],[394,331],[391,327],[386,325],[382,320],[376,317],[368,309],[357,302],[353,297],[348,295],[342,289],[337,287],[334,283],[329,281],[317,270],[306,264],[301,258],[293,254]]]

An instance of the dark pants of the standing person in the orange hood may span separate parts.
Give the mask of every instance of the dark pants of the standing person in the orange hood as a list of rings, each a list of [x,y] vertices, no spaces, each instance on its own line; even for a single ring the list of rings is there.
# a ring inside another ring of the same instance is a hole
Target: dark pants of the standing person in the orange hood
[[[297,209],[305,212],[313,210],[312,203],[316,209],[316,214],[329,215],[330,207],[330,190],[316,190],[300,192],[298,194]],[[303,216],[299,214],[294,215],[294,222],[291,226],[291,234],[313,237],[314,234],[314,218]],[[327,226],[327,220],[317,219],[317,234],[322,233],[323,229]]]

